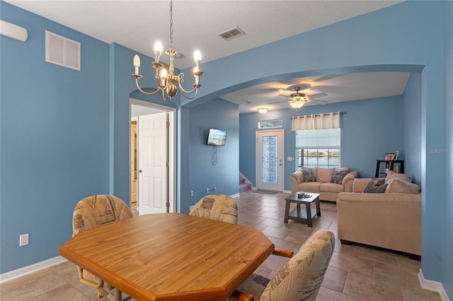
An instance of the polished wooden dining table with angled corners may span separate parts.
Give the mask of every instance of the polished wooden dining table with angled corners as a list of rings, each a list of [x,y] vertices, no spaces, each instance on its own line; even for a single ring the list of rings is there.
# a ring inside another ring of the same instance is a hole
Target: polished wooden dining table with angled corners
[[[225,300],[274,249],[256,228],[159,213],[81,232],[59,254],[136,300]]]

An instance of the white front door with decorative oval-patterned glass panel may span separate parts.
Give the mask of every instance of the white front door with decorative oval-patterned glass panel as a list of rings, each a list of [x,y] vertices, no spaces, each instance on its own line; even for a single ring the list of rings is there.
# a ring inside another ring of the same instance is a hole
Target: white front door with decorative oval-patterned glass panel
[[[283,130],[256,132],[256,186],[283,191]]]

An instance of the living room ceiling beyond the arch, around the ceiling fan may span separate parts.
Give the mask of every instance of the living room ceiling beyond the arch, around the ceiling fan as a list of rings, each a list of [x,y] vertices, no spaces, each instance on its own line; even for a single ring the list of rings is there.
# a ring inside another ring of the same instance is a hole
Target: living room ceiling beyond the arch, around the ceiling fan
[[[268,110],[287,109],[288,97],[301,87],[299,93],[306,96],[325,93],[309,100],[305,105],[401,95],[410,73],[407,72],[361,72],[329,76],[293,78],[283,82],[263,83],[250,88],[223,95],[224,100],[239,105],[239,112],[256,112],[258,107]],[[316,100],[320,100],[316,102]],[[276,103],[277,102],[277,103]]]

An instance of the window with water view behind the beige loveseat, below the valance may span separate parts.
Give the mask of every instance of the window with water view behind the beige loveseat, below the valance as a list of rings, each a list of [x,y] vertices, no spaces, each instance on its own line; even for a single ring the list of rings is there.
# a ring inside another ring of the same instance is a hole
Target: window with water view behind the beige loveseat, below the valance
[[[340,128],[296,131],[296,169],[340,167]]]

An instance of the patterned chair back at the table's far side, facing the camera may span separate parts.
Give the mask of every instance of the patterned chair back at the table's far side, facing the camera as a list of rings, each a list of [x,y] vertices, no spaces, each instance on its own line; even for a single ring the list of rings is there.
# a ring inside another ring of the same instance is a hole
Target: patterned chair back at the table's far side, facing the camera
[[[238,206],[231,196],[212,194],[197,201],[189,215],[236,224],[238,221]]]

